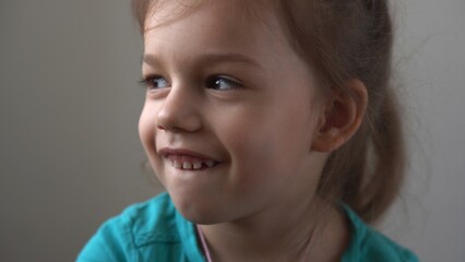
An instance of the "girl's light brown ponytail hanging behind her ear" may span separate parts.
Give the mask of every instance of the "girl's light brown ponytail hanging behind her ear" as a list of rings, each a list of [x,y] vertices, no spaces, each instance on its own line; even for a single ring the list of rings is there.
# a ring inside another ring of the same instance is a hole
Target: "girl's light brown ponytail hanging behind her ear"
[[[344,174],[341,199],[367,223],[377,222],[391,206],[404,178],[403,132],[394,98],[386,93],[375,118],[367,119],[346,148],[356,154]]]

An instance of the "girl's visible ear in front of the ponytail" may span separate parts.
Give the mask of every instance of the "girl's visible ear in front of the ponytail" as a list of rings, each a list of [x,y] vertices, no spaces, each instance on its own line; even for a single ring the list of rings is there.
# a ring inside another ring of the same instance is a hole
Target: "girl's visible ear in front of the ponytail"
[[[335,92],[320,116],[312,150],[332,152],[348,141],[360,127],[367,109],[367,87],[359,80],[346,83],[350,93]]]

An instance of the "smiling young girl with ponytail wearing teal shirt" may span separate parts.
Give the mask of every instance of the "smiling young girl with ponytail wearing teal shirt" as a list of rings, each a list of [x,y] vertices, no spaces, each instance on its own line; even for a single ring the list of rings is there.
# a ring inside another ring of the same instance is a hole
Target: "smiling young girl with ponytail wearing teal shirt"
[[[417,261],[367,224],[403,144],[384,0],[134,0],[140,136],[167,193],[78,261]]]

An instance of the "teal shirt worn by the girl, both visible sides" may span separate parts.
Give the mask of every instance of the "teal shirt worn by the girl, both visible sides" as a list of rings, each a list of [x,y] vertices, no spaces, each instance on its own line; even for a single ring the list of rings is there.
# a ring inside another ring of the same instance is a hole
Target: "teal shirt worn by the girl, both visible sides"
[[[409,250],[368,227],[349,207],[350,245],[342,262],[417,262]],[[177,212],[163,193],[147,202],[129,206],[106,222],[85,245],[78,262],[156,261],[202,262],[195,226]]]

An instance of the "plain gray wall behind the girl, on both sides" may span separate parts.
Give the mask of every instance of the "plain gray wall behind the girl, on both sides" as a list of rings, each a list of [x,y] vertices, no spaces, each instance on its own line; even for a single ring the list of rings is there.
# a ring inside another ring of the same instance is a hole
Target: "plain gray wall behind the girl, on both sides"
[[[465,1],[396,2],[408,181],[381,228],[421,261],[465,261]],[[0,261],[72,261],[159,186],[136,123],[128,1],[0,2]]]

